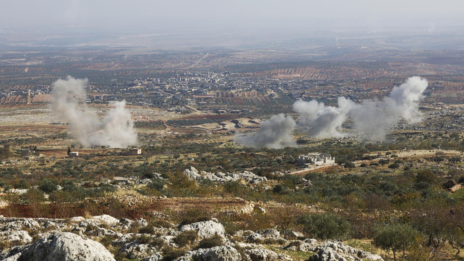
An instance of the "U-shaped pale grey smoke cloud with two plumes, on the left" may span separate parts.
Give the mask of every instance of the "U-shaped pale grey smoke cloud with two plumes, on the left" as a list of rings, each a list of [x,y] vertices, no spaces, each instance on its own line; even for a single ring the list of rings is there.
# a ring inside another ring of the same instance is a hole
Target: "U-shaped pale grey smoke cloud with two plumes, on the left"
[[[82,145],[125,148],[137,144],[137,132],[125,101],[115,102],[100,119],[85,102],[88,79],[68,77],[53,83],[52,110],[61,120],[69,122],[68,130]]]

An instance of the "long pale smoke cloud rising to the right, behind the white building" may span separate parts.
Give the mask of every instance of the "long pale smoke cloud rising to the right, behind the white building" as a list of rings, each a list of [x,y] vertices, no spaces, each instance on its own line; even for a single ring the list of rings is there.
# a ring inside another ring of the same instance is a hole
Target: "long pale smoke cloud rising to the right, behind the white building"
[[[427,85],[426,79],[415,76],[393,87],[390,95],[380,100],[355,103],[339,97],[336,107],[316,100],[297,100],[293,109],[301,115],[300,125],[312,128],[311,136],[342,136],[338,129],[350,118],[356,132],[379,138],[385,135],[389,126],[398,123],[400,117],[409,121],[420,120],[417,102],[424,97]]]

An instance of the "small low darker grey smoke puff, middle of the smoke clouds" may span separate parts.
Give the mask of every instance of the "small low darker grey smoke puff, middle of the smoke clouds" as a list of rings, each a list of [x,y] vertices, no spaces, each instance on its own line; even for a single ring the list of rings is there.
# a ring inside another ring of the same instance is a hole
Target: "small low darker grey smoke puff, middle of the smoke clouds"
[[[267,121],[262,121],[258,132],[254,135],[238,134],[235,140],[245,146],[255,148],[267,147],[280,149],[296,146],[291,134],[295,130],[296,122],[291,116],[285,117],[284,113],[274,115]]]

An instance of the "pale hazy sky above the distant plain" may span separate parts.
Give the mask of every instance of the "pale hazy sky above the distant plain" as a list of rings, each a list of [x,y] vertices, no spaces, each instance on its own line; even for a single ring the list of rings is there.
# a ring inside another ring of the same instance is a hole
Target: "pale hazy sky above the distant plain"
[[[0,0],[1,27],[464,24],[464,0]]]

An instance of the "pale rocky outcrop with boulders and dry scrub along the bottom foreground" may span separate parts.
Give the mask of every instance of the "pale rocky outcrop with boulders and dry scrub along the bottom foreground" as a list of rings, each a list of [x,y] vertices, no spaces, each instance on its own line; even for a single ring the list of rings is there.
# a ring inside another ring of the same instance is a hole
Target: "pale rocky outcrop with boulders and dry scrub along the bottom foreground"
[[[0,217],[0,231],[3,261],[383,261],[379,255],[339,241],[288,241],[274,229],[228,235],[214,218],[175,225],[110,215]]]

